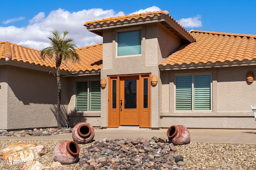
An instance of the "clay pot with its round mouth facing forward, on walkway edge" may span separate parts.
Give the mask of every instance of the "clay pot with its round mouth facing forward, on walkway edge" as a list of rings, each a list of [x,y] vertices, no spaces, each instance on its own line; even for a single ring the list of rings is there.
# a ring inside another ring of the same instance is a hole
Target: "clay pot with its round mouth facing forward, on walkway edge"
[[[73,128],[72,137],[78,144],[90,143],[94,138],[94,129],[89,123],[77,123]]]

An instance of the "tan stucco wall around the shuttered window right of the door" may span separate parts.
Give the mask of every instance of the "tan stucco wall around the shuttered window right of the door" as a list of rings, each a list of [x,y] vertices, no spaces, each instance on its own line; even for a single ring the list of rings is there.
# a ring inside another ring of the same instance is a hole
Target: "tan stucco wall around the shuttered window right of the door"
[[[188,128],[256,129],[250,107],[256,104],[256,82],[247,84],[249,71],[256,74],[256,66],[162,71],[162,127],[181,124]],[[205,72],[212,74],[212,110],[175,111],[174,76]]]

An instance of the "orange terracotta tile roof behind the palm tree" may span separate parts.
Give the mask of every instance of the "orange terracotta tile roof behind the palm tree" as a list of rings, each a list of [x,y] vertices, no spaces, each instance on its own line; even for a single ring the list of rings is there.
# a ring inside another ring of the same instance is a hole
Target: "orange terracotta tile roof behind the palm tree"
[[[77,53],[80,56],[79,63],[72,63],[71,61],[62,62],[60,69],[80,72],[102,68],[102,64],[100,64],[102,61],[102,43],[78,48]],[[10,43],[9,41],[0,41],[0,59],[5,59],[6,57],[11,61],[28,62],[30,64],[56,68],[54,60],[48,58],[41,59],[39,50]]]

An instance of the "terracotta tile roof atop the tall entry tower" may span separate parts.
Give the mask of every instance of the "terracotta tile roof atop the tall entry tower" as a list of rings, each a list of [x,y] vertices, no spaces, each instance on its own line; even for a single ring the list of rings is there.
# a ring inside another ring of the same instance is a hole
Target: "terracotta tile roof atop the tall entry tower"
[[[95,20],[95,21],[88,21],[86,23],[84,23],[84,26],[87,27],[87,29],[93,25],[95,27],[98,26],[98,29],[103,29],[103,27],[106,24],[111,24],[112,26],[117,24],[117,22],[123,22],[123,23],[136,23],[136,22],[142,22],[144,23],[144,21],[142,21],[141,19],[145,19],[148,18],[148,21],[150,21],[152,18],[154,18],[155,16],[163,16],[164,18],[168,19],[171,21],[171,28],[170,25],[168,25],[168,29],[170,29],[171,31],[173,31],[175,34],[178,34],[179,37],[183,38],[183,36],[187,35],[189,37],[189,41],[193,42],[196,39],[194,39],[194,37],[192,37],[192,35],[190,34],[190,32],[186,31],[186,29],[184,29],[176,20],[174,20],[170,15],[168,11],[156,11],[156,12],[146,12],[146,13],[140,13],[140,14],[131,14],[131,15],[126,15],[126,16],[118,16],[118,17],[112,17],[112,18],[105,18],[102,20]],[[151,18],[151,19],[150,19]],[[157,19],[157,21],[160,21]],[[123,24],[121,24],[123,26]],[[177,31],[177,29],[179,29],[179,31]],[[92,30],[90,30],[92,31]],[[99,33],[97,33],[97,31],[92,31],[98,35],[100,35]],[[182,34],[182,35],[181,35]],[[101,35],[102,36],[102,35]]]

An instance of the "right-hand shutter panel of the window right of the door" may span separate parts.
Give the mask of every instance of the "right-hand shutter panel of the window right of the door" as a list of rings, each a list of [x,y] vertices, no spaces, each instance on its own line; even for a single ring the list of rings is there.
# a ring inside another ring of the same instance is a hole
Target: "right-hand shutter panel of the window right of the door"
[[[194,75],[194,109],[210,110],[211,75]]]

